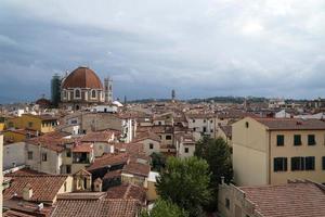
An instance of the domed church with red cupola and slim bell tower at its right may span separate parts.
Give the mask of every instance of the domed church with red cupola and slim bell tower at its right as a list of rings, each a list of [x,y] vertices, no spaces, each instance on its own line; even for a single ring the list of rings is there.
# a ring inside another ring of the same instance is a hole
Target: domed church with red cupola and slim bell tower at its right
[[[112,79],[105,78],[104,87],[94,71],[86,66],[79,66],[62,80],[61,106],[80,110],[110,103],[113,100],[112,85]]]

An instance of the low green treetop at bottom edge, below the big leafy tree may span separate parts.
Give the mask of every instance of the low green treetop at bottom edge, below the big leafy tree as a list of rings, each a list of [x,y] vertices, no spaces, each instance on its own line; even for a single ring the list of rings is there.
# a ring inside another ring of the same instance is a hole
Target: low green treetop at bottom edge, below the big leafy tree
[[[143,210],[140,217],[187,217],[188,214],[170,201],[158,199],[153,209],[148,213]]]

